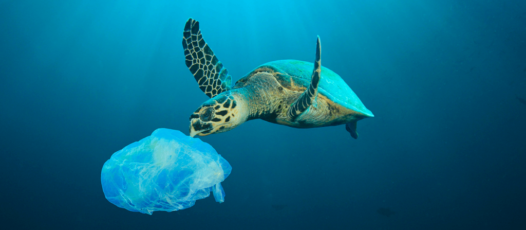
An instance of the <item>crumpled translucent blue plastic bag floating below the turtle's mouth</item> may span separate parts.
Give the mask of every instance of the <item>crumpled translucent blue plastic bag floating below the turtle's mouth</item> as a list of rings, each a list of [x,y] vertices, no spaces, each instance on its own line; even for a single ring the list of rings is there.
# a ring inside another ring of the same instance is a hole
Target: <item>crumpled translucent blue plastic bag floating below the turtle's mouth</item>
[[[159,128],[114,153],[100,180],[109,202],[132,212],[177,211],[214,193],[225,201],[221,182],[232,167],[213,147],[180,131]]]

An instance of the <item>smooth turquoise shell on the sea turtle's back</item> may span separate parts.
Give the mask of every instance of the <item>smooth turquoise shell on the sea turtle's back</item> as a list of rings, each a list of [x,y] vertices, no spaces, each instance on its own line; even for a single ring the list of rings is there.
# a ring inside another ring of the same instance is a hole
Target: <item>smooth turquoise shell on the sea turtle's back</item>
[[[288,88],[291,91],[301,90],[300,92],[303,92],[309,87],[313,68],[313,63],[297,60],[268,62],[258,66],[253,71],[239,79],[239,81],[236,82],[235,88],[244,86],[247,79],[254,74],[266,71],[273,73],[277,81],[283,87]],[[297,87],[298,85],[300,87]],[[318,93],[326,96],[332,102],[340,104],[343,107],[363,113],[367,116],[374,116],[338,74],[323,66],[321,67]]]

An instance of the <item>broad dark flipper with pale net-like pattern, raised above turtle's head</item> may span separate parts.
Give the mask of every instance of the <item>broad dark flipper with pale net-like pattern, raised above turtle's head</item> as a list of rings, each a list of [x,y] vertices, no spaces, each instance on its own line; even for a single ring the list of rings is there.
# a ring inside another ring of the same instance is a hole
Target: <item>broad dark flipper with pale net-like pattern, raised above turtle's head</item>
[[[189,18],[183,32],[186,66],[196,78],[199,88],[210,98],[230,90],[232,77],[206,44],[199,22]]]

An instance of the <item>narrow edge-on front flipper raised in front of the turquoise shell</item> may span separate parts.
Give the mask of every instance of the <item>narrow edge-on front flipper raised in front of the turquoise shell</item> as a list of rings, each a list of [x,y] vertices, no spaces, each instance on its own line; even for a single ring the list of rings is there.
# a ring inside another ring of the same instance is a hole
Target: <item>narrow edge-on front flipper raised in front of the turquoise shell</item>
[[[316,96],[318,95],[318,83],[320,82],[321,74],[321,44],[320,36],[316,40],[316,58],[314,61],[314,69],[312,70],[312,77],[310,79],[309,88],[301,94],[292,105],[290,105],[287,116],[291,121],[294,121],[301,113],[305,112],[307,108],[312,105]]]

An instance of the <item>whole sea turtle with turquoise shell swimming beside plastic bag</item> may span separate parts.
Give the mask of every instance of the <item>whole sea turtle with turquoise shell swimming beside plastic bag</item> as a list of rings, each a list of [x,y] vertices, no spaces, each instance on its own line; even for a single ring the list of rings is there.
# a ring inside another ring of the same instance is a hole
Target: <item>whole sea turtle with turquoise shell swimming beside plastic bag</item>
[[[229,131],[251,119],[296,128],[346,124],[358,138],[356,122],[372,117],[338,74],[321,66],[320,38],[314,63],[280,60],[258,66],[231,87],[232,77],[205,42],[199,22],[189,18],[183,32],[186,66],[208,101],[190,115],[190,136]]]

